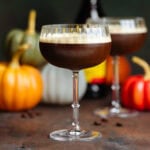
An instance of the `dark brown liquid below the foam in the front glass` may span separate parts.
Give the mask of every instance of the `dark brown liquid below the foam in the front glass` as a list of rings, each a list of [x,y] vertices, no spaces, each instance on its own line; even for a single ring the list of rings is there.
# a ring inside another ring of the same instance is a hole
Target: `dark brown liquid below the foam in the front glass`
[[[110,42],[97,44],[40,42],[40,50],[48,62],[71,70],[80,70],[100,64],[108,56],[110,46]]]

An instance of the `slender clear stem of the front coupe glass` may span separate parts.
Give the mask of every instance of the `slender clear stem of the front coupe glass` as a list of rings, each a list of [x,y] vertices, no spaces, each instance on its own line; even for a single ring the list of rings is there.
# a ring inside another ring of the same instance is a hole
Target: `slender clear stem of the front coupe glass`
[[[80,125],[79,125],[79,71],[73,71],[73,130],[74,132],[80,131]]]

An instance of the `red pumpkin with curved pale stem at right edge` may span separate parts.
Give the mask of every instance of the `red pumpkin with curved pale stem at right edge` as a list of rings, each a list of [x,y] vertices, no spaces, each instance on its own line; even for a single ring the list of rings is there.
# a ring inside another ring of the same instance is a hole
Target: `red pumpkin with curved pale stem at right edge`
[[[124,107],[150,110],[150,66],[141,58],[133,57],[145,71],[145,75],[132,75],[122,86],[121,102]]]

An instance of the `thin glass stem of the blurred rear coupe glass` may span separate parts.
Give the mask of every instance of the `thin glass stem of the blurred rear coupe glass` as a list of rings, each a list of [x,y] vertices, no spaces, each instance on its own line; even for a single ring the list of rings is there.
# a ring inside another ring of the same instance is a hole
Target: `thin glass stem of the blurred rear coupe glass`
[[[112,107],[120,109],[119,56],[113,56]]]

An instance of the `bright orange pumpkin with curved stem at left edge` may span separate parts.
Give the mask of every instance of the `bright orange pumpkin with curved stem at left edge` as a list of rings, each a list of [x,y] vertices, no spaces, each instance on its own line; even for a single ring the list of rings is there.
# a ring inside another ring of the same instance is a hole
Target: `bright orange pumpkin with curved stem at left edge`
[[[28,110],[41,101],[43,81],[40,71],[32,66],[19,64],[19,58],[26,49],[27,45],[21,45],[10,63],[0,63],[1,110]]]

